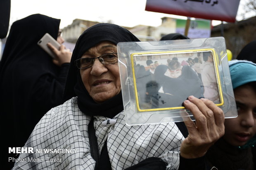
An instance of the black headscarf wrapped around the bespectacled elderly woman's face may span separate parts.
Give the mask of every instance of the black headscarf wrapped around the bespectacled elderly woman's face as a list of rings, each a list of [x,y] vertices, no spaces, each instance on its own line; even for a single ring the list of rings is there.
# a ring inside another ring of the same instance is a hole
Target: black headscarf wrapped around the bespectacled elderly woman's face
[[[85,51],[102,41],[110,41],[117,44],[118,42],[137,42],[140,40],[125,28],[110,23],[99,23],[85,30],[73,50],[64,90],[64,100],[78,96],[78,107],[83,113],[112,118],[123,110],[121,92],[107,101],[96,103],[85,89],[80,72],[74,65],[74,61],[81,58]]]

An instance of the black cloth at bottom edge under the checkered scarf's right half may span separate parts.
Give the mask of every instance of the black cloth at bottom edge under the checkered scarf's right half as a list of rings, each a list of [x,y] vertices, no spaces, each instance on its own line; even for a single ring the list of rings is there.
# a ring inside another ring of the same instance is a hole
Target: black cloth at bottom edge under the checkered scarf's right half
[[[126,170],[166,170],[167,164],[161,158],[147,158]]]

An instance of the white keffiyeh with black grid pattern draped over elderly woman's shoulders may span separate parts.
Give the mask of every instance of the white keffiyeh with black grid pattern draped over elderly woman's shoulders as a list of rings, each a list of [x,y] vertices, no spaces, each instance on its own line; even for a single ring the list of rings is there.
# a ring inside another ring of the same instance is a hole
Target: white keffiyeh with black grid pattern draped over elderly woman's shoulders
[[[20,154],[19,160],[23,161],[17,161],[13,169],[94,170],[95,160],[90,154],[88,138],[90,119],[91,116],[79,110],[76,97],[52,108],[25,144],[25,147],[33,147],[34,153]],[[116,120],[113,125],[103,125],[106,119],[109,118],[95,116],[94,127],[100,152],[107,140],[112,169],[123,170],[149,157],[171,160],[178,169],[180,144],[184,138],[175,123],[127,126],[123,112],[113,118]],[[75,153],[36,153],[36,149],[74,149]],[[29,161],[31,158],[38,159]]]

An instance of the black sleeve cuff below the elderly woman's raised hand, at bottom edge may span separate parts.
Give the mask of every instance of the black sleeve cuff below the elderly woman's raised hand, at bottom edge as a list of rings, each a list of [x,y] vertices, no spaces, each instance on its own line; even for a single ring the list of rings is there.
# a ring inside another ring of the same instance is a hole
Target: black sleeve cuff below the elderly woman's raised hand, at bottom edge
[[[205,156],[193,159],[186,159],[180,156],[179,170],[206,170]]]

